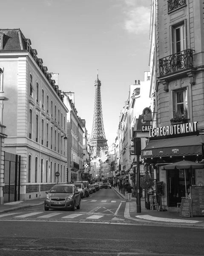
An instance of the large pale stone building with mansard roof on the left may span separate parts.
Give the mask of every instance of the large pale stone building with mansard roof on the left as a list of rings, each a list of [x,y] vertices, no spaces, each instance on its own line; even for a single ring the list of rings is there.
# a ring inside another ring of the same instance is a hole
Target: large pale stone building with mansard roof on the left
[[[1,116],[5,151],[21,156],[20,200],[45,196],[66,182],[66,114],[52,74],[20,29],[0,29]]]

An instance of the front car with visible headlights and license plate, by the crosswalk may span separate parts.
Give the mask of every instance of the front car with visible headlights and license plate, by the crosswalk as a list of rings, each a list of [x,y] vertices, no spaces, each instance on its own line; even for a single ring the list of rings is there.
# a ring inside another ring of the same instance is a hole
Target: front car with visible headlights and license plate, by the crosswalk
[[[71,209],[75,211],[75,207],[80,209],[80,193],[75,185],[57,184],[49,192],[46,191],[46,194],[45,211],[49,211],[49,209]]]

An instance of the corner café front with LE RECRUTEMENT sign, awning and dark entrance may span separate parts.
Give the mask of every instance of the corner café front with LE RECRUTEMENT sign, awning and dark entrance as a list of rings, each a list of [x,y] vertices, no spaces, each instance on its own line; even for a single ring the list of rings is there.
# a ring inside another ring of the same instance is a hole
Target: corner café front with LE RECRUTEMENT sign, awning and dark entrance
[[[198,131],[197,122],[187,122],[152,128],[149,143],[141,151],[141,158],[154,170],[155,183],[163,181],[164,195],[162,207],[169,211],[177,208],[177,203],[191,198],[191,186],[204,186],[204,169],[164,170],[164,166],[181,160],[204,163],[204,135]]]

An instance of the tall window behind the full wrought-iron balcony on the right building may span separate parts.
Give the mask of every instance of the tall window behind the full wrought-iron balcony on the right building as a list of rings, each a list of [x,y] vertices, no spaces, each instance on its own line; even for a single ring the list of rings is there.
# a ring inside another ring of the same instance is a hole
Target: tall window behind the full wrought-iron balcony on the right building
[[[178,26],[172,26],[172,54],[187,49],[186,20]]]

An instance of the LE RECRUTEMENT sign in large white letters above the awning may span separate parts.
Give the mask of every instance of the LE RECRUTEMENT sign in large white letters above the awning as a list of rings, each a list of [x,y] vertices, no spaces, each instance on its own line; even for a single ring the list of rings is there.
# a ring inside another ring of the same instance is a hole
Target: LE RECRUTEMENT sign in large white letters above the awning
[[[151,128],[149,130],[149,137],[154,139],[158,137],[179,137],[189,136],[192,133],[198,131],[198,122],[189,122],[184,124],[176,124],[169,126],[162,126],[157,128]]]

